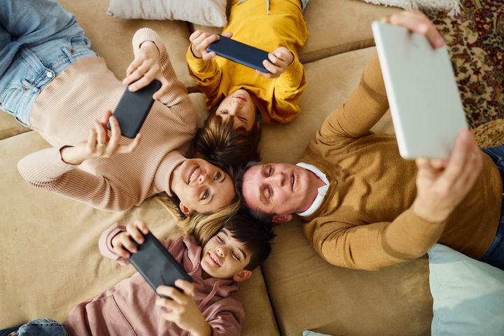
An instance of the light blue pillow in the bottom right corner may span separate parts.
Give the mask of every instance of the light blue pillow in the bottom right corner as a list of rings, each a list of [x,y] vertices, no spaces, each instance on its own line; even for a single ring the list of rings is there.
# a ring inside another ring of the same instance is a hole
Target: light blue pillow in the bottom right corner
[[[429,255],[433,336],[503,336],[504,271],[435,244]]]

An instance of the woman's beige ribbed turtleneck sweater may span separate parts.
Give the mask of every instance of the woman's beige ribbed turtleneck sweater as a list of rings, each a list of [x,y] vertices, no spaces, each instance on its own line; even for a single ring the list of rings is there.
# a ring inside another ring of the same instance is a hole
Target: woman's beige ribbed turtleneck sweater
[[[172,195],[169,178],[185,160],[195,133],[195,113],[158,34],[148,28],[137,31],[135,55],[144,41],[153,41],[160,50],[162,72],[170,87],[148,113],[139,146],[133,153],[85,160],[78,166],[62,161],[60,149],[85,141],[94,120],[102,119],[106,110],[113,111],[126,88],[104,59],[86,57],[62,71],[34,102],[31,128],[53,147],[18,162],[27,183],[111,211],[129,209],[162,191]],[[130,141],[121,137],[120,144]]]

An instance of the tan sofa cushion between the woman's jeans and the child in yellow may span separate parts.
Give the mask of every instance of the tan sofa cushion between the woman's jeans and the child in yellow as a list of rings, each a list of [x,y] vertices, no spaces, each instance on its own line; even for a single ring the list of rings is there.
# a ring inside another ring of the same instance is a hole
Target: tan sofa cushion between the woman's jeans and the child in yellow
[[[175,72],[186,86],[194,85],[186,70],[186,50],[189,46],[189,29],[182,21],[148,21],[111,18],[106,15],[108,1],[60,0],[59,3],[76,15],[91,40],[92,49],[106,60],[117,78],[123,79],[126,69],[134,59],[132,38],[142,27],[154,29],[168,47]],[[92,8],[92,10],[91,10]]]

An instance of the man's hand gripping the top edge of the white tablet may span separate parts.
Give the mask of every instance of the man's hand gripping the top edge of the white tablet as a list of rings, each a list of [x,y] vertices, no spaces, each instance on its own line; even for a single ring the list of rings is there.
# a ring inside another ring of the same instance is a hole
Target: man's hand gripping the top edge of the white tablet
[[[426,36],[433,48],[441,48],[444,45],[444,40],[433,22],[430,22],[429,18],[420,10],[403,10],[388,18],[383,18],[381,21],[405,27],[409,31]]]

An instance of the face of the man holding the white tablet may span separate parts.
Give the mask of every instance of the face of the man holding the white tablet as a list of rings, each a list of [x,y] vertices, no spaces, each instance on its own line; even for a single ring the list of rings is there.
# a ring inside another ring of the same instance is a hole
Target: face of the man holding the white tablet
[[[289,215],[305,211],[313,203],[318,193],[315,179],[313,173],[302,167],[265,163],[245,172],[242,193],[250,209],[265,214]]]

